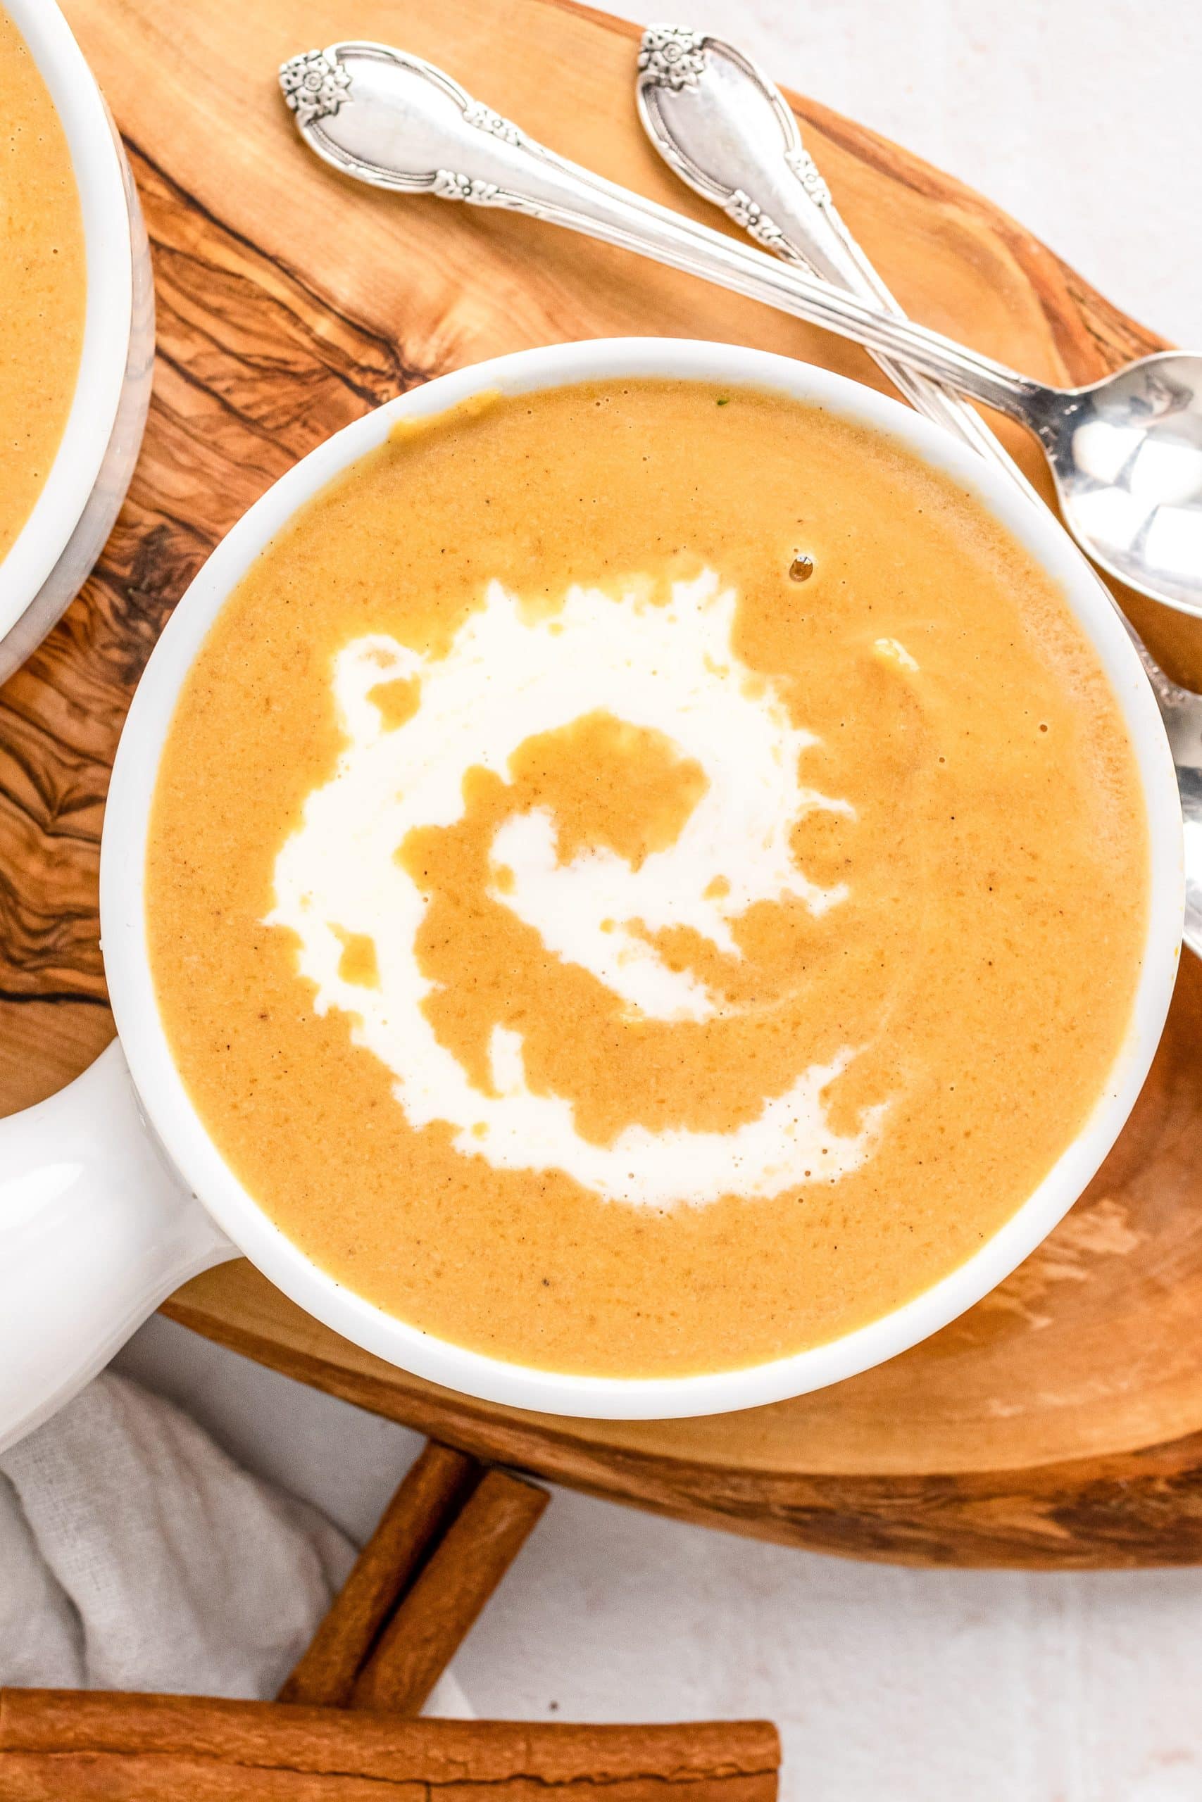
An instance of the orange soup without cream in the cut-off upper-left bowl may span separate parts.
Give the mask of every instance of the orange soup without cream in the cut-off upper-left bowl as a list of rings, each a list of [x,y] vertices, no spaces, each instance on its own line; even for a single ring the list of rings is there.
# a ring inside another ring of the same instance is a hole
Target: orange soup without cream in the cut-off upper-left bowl
[[[29,519],[79,377],[85,254],[67,137],[0,9],[0,557]]]

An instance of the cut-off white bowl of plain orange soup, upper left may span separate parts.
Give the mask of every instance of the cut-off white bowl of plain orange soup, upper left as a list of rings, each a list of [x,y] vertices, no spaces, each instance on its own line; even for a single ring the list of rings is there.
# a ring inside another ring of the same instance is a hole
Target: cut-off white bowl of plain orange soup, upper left
[[[105,99],[52,0],[0,5],[0,679],[96,562],[146,422],[146,231]]]

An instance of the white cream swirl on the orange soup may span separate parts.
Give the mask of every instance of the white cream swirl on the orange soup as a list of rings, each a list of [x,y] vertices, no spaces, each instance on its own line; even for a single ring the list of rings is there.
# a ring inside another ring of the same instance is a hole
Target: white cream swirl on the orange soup
[[[815,735],[737,658],[733,589],[710,569],[667,598],[651,589],[573,587],[560,609],[532,618],[492,582],[442,658],[382,634],[341,651],[333,692],[348,748],[276,860],[269,923],[297,935],[317,1009],[351,1016],[355,1040],[396,1078],[409,1123],[452,1124],[465,1155],[557,1168],[607,1200],[654,1207],[834,1180],[869,1155],[881,1112],[867,1110],[845,1133],[827,1117],[824,1090],[852,1060],[851,1045],[798,1069],[728,1132],[629,1124],[598,1144],[577,1130],[569,1097],[530,1087],[521,1033],[492,1027],[481,1087],[423,1011],[434,986],[418,959],[427,894],[405,869],[409,834],[461,820],[470,769],[510,780],[521,746],[580,723],[618,739],[636,728],[636,755],[667,753],[683,787],[679,831],[645,856],[600,843],[564,860],[555,815],[532,807],[496,831],[488,894],[624,1009],[696,1024],[730,1007],[688,966],[665,960],[658,933],[687,928],[739,959],[732,923],[748,908],[795,897],[820,915],[845,899],[845,885],[824,887],[798,867],[793,831],[815,809],[854,809],[802,780]],[[413,712],[389,730],[373,696],[396,683],[413,685]],[[348,939],[371,948],[350,975]]]

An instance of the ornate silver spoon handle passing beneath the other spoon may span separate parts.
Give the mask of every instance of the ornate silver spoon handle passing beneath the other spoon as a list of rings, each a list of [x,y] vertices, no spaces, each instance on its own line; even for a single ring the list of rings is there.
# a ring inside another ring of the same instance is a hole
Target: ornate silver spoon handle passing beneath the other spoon
[[[638,110],[679,178],[719,205],[766,250],[847,288],[881,312],[905,312],[843,223],[802,142],[791,106],[733,43],[681,25],[652,25],[638,58]],[[696,148],[696,155],[692,153]],[[878,353],[894,387],[973,450],[1027,479],[955,391]]]

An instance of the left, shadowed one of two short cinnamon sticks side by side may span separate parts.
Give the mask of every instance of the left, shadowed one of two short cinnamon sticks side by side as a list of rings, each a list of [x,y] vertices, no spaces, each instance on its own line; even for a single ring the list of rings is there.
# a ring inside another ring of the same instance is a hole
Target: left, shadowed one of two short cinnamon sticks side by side
[[[429,1442],[380,1515],[279,1701],[346,1708],[371,1643],[405,1584],[479,1470],[474,1458]]]

